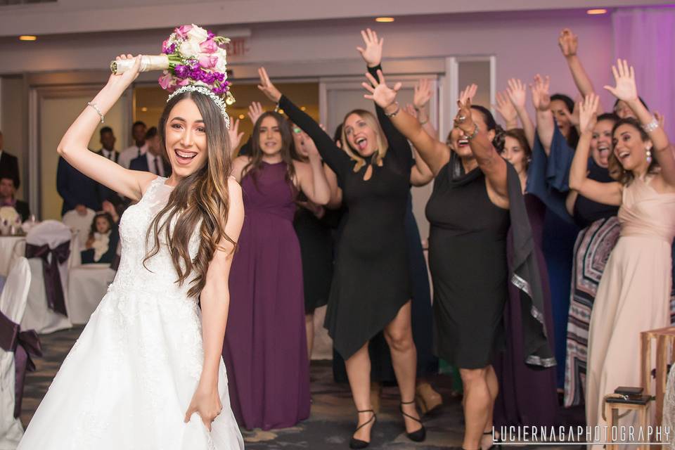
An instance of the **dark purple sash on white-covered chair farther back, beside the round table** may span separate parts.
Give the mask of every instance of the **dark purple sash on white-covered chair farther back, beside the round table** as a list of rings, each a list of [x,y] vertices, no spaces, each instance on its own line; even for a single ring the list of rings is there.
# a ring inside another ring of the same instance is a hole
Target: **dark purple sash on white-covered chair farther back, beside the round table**
[[[51,263],[48,262],[51,253]],[[68,316],[65,310],[65,297],[63,296],[63,285],[61,276],[58,272],[58,264],[63,264],[70,256],[70,240],[58,245],[56,248],[49,248],[49,245],[26,244],[26,257],[42,259],[42,275],[44,276],[44,290],[47,296],[49,309],[59,314]]]

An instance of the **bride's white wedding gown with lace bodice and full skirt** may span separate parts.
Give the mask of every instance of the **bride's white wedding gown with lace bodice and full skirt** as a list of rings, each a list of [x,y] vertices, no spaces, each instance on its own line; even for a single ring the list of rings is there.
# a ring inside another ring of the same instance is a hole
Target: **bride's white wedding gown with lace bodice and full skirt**
[[[167,246],[143,258],[150,222],[171,186],[152,181],[120,221],[115,281],[63,361],[30,421],[20,450],[231,450],[244,444],[230,408],[221,359],[223,406],[209,432],[198,414],[184,423],[203,365],[202,327],[189,283],[175,283]],[[162,241],[160,240],[160,243]],[[195,231],[190,255],[199,246]],[[189,280],[188,280],[189,281]]]

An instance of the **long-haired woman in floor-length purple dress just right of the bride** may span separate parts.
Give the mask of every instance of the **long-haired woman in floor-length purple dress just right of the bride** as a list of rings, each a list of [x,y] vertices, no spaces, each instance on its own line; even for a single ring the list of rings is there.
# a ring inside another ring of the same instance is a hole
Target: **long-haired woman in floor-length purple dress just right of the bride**
[[[309,417],[300,245],[293,229],[302,191],[326,205],[330,187],[316,148],[293,160],[288,122],[278,113],[255,123],[251,153],[233,161],[245,219],[230,276],[232,302],[223,358],[232,410],[247,429],[288,428]]]

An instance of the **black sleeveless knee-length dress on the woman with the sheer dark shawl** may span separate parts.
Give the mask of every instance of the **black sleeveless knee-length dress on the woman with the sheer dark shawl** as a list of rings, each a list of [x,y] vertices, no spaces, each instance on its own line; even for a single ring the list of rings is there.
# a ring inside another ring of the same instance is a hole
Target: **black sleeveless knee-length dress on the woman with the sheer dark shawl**
[[[437,175],[426,214],[434,284],[437,355],[458,368],[483,368],[503,348],[508,298],[509,211],[487,194],[484,174]]]

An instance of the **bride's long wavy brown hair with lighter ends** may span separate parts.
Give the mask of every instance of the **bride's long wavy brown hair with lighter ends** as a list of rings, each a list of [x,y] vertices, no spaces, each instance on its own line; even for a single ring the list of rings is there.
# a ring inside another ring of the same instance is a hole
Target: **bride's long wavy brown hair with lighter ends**
[[[198,296],[206,284],[209,264],[219,243],[224,238],[236,248],[236,243],[225,233],[229,213],[230,196],[227,178],[231,172],[230,141],[221,110],[207,96],[196,91],[187,91],[174,96],[167,103],[160,118],[162,148],[166,148],[166,127],[169,113],[176,103],[190,98],[202,115],[206,130],[207,160],[203,167],[181,179],[169,195],[167,205],[155,216],[148,233],[154,236],[153,249],[148,252],[143,264],[160,251],[160,233],[163,233],[169,248],[174,269],[178,274],[176,283],[183,285],[195,272],[188,290],[189,297]],[[199,225],[200,244],[195,259],[190,257],[188,244]]]

